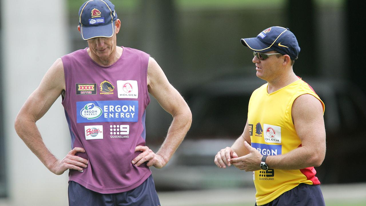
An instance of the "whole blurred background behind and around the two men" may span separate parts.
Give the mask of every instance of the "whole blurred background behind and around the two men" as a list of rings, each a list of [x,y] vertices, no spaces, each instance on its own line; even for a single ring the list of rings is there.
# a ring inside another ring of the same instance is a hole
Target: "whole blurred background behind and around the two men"
[[[87,47],[77,30],[84,0],[0,0],[0,205],[67,205],[68,172],[49,172],[16,135],[14,119],[60,56]],[[326,105],[327,154],[316,168],[327,205],[366,204],[366,88],[361,0],[112,0],[117,44],[149,53],[193,113],[186,139],[163,169],[152,168],[162,205],[254,205],[252,174],[219,169],[214,155],[243,132],[255,76],[240,38],[288,27],[301,52],[295,73]],[[152,101],[146,144],[157,151],[171,115]],[[37,122],[62,159],[70,134],[61,99]],[[32,131],[29,131],[32,132]]]

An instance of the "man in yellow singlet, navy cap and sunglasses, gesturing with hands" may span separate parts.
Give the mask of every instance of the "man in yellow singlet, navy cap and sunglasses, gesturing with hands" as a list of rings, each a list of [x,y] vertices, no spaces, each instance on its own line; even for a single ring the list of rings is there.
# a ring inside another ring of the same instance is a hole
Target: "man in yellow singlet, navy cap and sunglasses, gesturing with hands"
[[[241,42],[267,83],[250,97],[243,134],[214,162],[253,172],[255,205],[324,206],[314,167],[325,157],[325,106],[292,70],[300,52],[295,35],[272,26]]]

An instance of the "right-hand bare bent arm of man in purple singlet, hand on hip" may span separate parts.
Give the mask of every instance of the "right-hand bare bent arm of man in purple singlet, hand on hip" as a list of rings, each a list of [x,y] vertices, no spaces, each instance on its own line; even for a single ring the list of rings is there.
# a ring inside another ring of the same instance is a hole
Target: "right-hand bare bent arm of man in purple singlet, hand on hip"
[[[147,166],[162,168],[168,163],[186,136],[191,126],[192,114],[183,97],[169,83],[163,70],[151,57],[147,67],[147,87],[161,107],[172,115],[173,121],[168,129],[167,137],[156,154],[146,146],[137,146],[136,151],[143,152],[132,160],[132,163],[139,166],[143,162],[149,161]]]

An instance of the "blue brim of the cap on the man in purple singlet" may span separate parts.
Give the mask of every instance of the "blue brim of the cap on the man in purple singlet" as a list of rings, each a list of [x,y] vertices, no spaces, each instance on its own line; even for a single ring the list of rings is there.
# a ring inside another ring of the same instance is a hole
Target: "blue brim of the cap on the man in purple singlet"
[[[83,40],[89,40],[95,37],[112,37],[114,34],[114,23],[102,26],[81,26],[81,37]]]

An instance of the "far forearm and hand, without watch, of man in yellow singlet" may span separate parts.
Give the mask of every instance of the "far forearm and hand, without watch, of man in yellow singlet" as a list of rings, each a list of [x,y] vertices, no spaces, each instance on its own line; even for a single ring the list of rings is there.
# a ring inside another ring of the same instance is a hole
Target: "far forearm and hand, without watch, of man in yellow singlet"
[[[217,152],[214,162],[219,168],[226,168],[230,166],[231,158],[238,158],[244,155],[249,154],[249,150],[244,147],[244,141],[251,142],[250,135],[249,135],[249,126],[248,120],[245,124],[244,131],[242,135],[239,136],[238,139],[235,140],[234,144],[231,147],[226,147],[225,149],[220,150]]]

